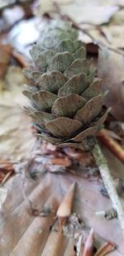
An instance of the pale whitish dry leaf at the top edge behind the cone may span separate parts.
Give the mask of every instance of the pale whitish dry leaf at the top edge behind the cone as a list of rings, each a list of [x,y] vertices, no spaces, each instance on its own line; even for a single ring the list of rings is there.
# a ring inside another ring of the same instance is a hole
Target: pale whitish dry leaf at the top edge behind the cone
[[[90,3],[86,0],[55,0],[54,2],[51,0],[40,0],[37,12],[40,16],[44,13],[49,13],[52,17],[55,17],[57,13],[55,5],[57,5],[60,9],[60,13],[66,15],[74,22],[101,25],[109,22],[113,14],[117,12],[118,4],[119,2],[116,1],[116,6],[114,6],[114,1],[99,2],[99,0],[92,0]]]

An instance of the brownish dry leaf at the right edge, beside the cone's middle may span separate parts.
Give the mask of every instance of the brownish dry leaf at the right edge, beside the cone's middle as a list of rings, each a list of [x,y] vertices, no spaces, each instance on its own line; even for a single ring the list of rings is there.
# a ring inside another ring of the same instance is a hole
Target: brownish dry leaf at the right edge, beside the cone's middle
[[[124,56],[100,47],[98,54],[98,77],[103,78],[103,90],[109,90],[105,104],[112,107],[112,114],[124,121]]]

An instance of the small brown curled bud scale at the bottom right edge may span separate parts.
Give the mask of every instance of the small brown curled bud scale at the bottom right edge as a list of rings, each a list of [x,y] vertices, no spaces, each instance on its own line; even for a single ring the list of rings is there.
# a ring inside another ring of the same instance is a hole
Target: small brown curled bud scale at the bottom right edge
[[[94,256],[105,256],[108,253],[111,253],[116,248],[115,244],[107,242],[98,250]]]

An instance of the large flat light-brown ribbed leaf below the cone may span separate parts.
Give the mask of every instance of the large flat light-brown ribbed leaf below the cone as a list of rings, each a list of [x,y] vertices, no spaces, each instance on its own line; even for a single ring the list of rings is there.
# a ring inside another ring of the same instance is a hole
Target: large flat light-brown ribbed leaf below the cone
[[[113,157],[109,155],[109,162],[111,158],[113,161]],[[119,174],[123,176],[123,166],[118,166],[116,159],[114,161],[111,170],[115,170],[115,176]],[[40,163],[32,162],[30,168],[34,169],[35,166],[41,168],[39,165]],[[72,252],[74,253],[72,238],[70,241],[69,237],[62,236],[50,227],[55,223],[54,217],[61,200],[75,181],[77,185],[72,211],[81,216],[85,225],[93,227],[95,238],[97,233],[103,237],[103,241],[111,240],[118,245],[111,256],[122,256],[124,244],[118,221],[107,221],[95,214],[96,211],[112,207],[111,201],[98,191],[99,181],[88,181],[82,176],[82,171],[80,176],[73,176],[67,172],[64,174],[44,172],[36,181],[26,176],[24,182],[24,178],[18,174],[7,193],[7,200],[4,202],[0,216],[0,255],[72,255]],[[50,206],[53,209],[50,215],[44,217],[32,215],[26,196],[34,207]],[[98,248],[103,244],[100,241],[101,239],[98,239]]]

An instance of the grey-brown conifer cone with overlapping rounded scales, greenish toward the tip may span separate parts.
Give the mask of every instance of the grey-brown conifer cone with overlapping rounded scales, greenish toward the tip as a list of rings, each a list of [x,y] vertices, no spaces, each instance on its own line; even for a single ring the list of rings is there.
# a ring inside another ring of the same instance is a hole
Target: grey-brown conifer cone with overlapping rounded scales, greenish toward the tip
[[[26,112],[43,140],[79,147],[107,118],[101,80],[93,82],[86,49],[78,32],[66,22],[52,22],[30,53],[35,66],[25,70],[30,80],[23,94],[31,100]]]

